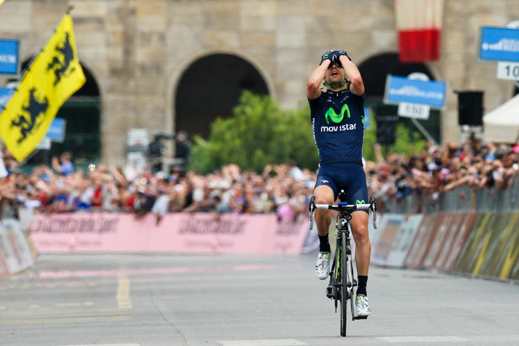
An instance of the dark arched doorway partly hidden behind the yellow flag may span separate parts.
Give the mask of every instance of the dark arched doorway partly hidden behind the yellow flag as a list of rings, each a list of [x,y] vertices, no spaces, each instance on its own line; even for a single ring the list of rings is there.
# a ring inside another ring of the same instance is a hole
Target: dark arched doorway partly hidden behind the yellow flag
[[[33,58],[23,61],[22,75]],[[29,165],[50,163],[50,158],[68,151],[73,155],[74,163],[97,161],[101,155],[101,98],[100,90],[92,72],[82,65],[86,77],[85,84],[73,94],[56,114],[56,118],[65,119],[63,143],[53,141],[50,150],[33,153],[28,159]]]

